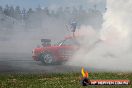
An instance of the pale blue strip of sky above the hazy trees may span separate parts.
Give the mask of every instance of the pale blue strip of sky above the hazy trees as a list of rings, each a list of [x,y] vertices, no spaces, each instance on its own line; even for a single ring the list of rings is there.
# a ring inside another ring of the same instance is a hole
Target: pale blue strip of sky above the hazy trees
[[[21,8],[37,8],[39,5],[44,7],[50,7],[51,9],[59,6],[72,6],[78,7],[83,6],[83,8],[92,8],[95,4],[97,8],[101,11],[105,9],[105,0],[0,0],[0,5],[5,6],[17,6]]]

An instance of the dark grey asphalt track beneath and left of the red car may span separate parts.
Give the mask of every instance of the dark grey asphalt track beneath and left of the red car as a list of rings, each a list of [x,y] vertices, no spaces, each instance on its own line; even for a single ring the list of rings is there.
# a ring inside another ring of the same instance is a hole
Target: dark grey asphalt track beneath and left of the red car
[[[80,67],[44,65],[33,61],[30,55],[0,54],[0,73],[63,73],[79,72]]]

